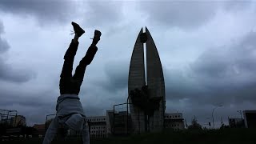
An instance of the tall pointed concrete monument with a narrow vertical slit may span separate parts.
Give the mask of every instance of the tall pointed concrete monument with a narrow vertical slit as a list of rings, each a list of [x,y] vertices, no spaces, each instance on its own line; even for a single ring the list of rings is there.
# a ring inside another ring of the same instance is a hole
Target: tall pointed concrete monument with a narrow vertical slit
[[[146,43],[145,47],[144,43]],[[146,115],[145,110],[142,108],[130,104],[133,130],[135,133],[146,130],[162,130],[166,110],[165,82],[158,50],[147,28],[145,33],[143,33],[142,29],[140,30],[134,45],[130,59],[128,93],[130,94],[130,91],[135,89],[141,90],[142,86],[147,86],[149,98],[161,98],[161,101],[159,102],[158,110],[154,110],[154,114],[150,115],[150,117]],[[134,103],[130,97],[129,102]]]

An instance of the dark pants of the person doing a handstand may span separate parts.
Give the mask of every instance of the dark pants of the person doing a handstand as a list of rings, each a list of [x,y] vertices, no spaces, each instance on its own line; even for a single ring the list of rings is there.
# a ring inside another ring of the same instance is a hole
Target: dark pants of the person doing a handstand
[[[90,65],[90,62],[94,59],[98,47],[92,44],[84,58],[79,62],[74,75],[72,76],[74,56],[78,50],[78,42],[70,43],[70,47],[66,50],[64,56],[64,64],[62,67],[62,74],[59,81],[59,90],[61,94],[79,94],[80,86],[82,85],[83,77],[86,72],[86,66]]]

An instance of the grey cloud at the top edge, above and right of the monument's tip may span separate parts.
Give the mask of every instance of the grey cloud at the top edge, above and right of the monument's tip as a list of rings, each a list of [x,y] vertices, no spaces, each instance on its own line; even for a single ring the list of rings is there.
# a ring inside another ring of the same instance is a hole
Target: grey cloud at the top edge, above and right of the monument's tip
[[[251,2],[155,1],[140,2],[140,8],[150,23],[166,27],[193,30],[210,22],[218,10],[246,10]]]

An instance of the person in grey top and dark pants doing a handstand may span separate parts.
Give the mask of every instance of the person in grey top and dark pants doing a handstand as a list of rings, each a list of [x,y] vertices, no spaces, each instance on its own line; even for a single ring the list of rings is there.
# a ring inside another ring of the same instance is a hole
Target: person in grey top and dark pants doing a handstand
[[[86,115],[84,114],[78,94],[82,85],[86,66],[90,65],[90,62],[94,59],[94,55],[98,50],[96,44],[100,40],[102,33],[98,30],[94,31],[93,42],[88,48],[86,55],[79,62],[79,65],[76,67],[75,73],[72,76],[74,56],[77,53],[79,44],[78,38],[80,38],[85,31],[82,30],[77,23],[72,22],[71,24],[74,27],[74,38],[64,56],[64,64],[59,82],[61,95],[58,97],[56,105],[57,114],[46,131],[43,144],[50,144],[59,128],[80,131],[82,133],[83,143],[90,143],[89,126],[86,122]]]

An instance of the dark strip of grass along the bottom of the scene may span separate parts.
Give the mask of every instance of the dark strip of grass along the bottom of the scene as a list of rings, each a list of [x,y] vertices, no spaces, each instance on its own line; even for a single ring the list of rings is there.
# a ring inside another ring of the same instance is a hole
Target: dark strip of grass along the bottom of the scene
[[[90,144],[256,144],[256,129],[225,129],[225,130],[165,130],[154,134],[137,134],[129,137],[113,137],[104,139],[91,139]],[[29,140],[16,140],[0,142],[1,144],[36,144],[42,143],[42,138],[30,138]],[[70,138],[65,142],[54,141],[53,144],[82,143],[78,139]]]

